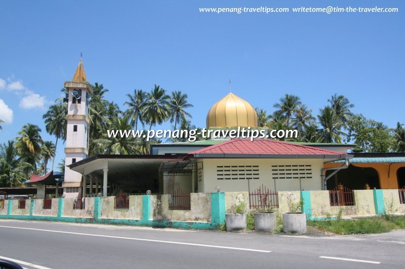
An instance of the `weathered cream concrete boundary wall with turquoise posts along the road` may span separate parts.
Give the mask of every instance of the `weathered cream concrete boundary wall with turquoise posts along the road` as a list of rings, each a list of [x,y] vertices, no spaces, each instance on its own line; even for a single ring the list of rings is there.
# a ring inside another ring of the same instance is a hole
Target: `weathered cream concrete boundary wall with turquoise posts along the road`
[[[191,193],[190,210],[169,209],[169,195],[131,195],[129,209],[114,209],[113,196],[85,199],[84,209],[73,209],[73,198],[52,199],[51,209],[43,209],[43,199],[27,199],[22,209],[18,200],[5,200],[0,219],[217,229],[240,202],[249,208],[248,192]],[[353,206],[330,206],[328,191],[278,192],[278,212],[291,211],[300,200],[308,219],[336,217],[340,210],[342,216],[405,213],[398,190],[356,190]]]

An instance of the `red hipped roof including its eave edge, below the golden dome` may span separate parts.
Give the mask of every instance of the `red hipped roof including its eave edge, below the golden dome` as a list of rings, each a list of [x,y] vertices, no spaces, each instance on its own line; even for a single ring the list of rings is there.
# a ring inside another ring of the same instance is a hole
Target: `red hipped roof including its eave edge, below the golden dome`
[[[271,139],[230,139],[190,153],[194,157],[350,158],[352,155]]]

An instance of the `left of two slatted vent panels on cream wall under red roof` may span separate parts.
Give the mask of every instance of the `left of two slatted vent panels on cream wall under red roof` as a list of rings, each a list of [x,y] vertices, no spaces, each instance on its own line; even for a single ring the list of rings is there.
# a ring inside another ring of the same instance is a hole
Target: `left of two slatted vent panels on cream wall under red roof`
[[[259,179],[259,166],[217,166],[217,180]]]

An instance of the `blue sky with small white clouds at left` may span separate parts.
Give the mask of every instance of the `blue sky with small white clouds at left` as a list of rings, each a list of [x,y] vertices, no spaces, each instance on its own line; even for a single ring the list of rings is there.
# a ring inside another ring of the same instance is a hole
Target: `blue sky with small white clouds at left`
[[[206,14],[216,7],[393,7],[380,14]],[[394,127],[405,123],[403,1],[2,1],[0,142],[37,124],[61,96],[83,52],[88,80],[125,94],[158,84],[187,93],[192,123],[229,92],[273,111],[285,93],[314,114],[334,93],[353,111]],[[10,110],[13,119],[10,119]],[[4,117],[4,116],[3,116]],[[162,128],[169,128],[165,124]],[[64,157],[58,146],[56,161]],[[56,163],[57,163],[56,162]]]

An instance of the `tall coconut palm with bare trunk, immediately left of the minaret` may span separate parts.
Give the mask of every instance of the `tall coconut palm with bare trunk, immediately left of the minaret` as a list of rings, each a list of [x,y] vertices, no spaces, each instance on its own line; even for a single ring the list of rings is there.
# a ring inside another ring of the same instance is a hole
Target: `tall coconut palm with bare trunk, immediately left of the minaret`
[[[49,107],[47,113],[42,116],[45,120],[45,129],[50,135],[54,135],[56,137],[55,141],[55,151],[52,157],[52,168],[51,171],[54,170],[55,164],[55,154],[56,154],[56,147],[58,146],[58,140],[62,139],[63,141],[66,140],[66,129],[67,129],[67,120],[66,120],[66,111],[67,111],[67,104],[64,102],[57,102]]]

